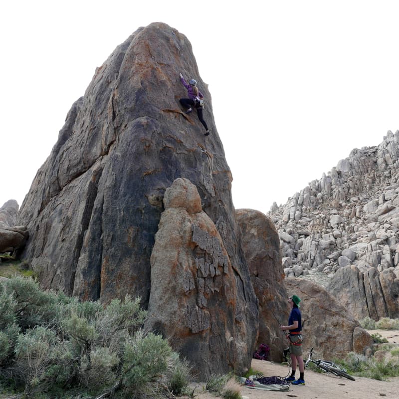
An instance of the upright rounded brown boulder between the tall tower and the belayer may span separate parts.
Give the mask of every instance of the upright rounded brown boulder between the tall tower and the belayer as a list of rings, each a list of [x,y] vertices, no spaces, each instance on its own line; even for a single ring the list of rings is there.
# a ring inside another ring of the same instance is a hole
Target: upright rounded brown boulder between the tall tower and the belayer
[[[288,320],[289,309],[277,230],[271,220],[257,210],[237,209],[235,214],[252,285],[259,301],[256,346],[261,343],[269,345],[270,360],[279,362],[287,344],[281,339],[279,326]]]

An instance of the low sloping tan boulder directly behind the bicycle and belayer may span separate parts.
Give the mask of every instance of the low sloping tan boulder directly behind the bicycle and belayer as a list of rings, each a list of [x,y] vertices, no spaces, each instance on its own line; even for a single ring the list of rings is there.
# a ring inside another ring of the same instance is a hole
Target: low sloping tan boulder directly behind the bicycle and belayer
[[[374,341],[370,334],[323,287],[293,277],[286,278],[285,285],[289,295],[298,295],[302,300],[304,357],[312,347],[321,359],[344,359],[348,352],[364,354],[372,347]]]

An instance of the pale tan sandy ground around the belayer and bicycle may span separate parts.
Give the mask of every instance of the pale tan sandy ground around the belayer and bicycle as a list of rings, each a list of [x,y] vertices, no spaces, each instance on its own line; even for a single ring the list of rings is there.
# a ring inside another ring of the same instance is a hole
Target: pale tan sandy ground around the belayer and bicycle
[[[386,337],[389,342],[399,344],[399,331],[397,330],[373,330],[371,334],[379,333]],[[252,360],[252,368],[263,373],[265,376],[285,377],[289,370],[287,366],[277,363]],[[297,372],[298,374],[298,372]],[[368,378],[355,377],[356,381],[335,377],[326,373],[315,373],[305,370],[305,386],[290,385],[290,390],[260,391],[242,387],[241,395],[248,399],[267,398],[298,398],[298,399],[373,399],[373,398],[399,398],[399,377],[391,378],[388,381],[377,381]],[[196,391],[198,399],[214,399],[208,392]]]

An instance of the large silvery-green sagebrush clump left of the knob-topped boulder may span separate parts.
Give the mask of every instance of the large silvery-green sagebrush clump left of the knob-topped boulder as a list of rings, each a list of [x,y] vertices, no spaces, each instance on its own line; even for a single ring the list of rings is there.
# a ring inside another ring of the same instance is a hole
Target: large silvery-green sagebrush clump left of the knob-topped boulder
[[[12,278],[0,285],[0,379],[29,398],[183,393],[188,362],[141,329],[146,314],[139,298],[103,306]]]

